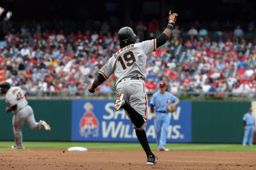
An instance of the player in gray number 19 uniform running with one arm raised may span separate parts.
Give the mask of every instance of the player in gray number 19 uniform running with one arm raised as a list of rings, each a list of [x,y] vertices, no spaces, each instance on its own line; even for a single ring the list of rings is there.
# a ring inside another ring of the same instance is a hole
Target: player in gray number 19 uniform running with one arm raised
[[[145,91],[147,55],[166,43],[170,38],[177,14],[169,13],[169,23],[164,32],[156,39],[136,43],[136,35],[130,27],[118,31],[120,48],[100,69],[98,77],[89,86],[90,92],[95,92],[102,82],[115,74],[117,100],[115,111],[124,108],[133,123],[138,140],[147,154],[147,165],[156,165],[147,140],[145,128],[147,125],[147,95]]]

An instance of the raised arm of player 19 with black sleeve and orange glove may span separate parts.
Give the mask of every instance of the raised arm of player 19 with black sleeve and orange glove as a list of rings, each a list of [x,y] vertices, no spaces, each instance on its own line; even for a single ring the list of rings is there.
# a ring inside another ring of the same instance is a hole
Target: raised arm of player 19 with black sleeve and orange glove
[[[163,33],[161,33],[161,35],[159,37],[156,38],[156,48],[164,45],[166,43],[167,40],[169,40],[171,33],[172,33],[172,29],[174,27],[175,21],[177,19],[178,14],[176,13],[171,13],[172,11],[169,12],[169,20],[168,20],[168,25],[166,27],[166,29],[164,30]]]

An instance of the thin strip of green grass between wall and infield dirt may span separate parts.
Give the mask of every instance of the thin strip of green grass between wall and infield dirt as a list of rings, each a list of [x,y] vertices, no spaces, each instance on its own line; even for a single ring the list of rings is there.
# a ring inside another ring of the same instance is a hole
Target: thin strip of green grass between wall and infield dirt
[[[0,142],[0,151],[12,150],[10,147],[14,142]],[[101,142],[23,142],[26,148],[59,148],[67,149],[70,147],[85,147],[88,149],[139,149],[140,143],[101,143]],[[149,144],[151,149],[156,150],[156,143]],[[166,148],[170,150],[216,150],[216,151],[256,151],[253,147],[243,147],[242,144],[201,144],[201,143],[167,143]]]

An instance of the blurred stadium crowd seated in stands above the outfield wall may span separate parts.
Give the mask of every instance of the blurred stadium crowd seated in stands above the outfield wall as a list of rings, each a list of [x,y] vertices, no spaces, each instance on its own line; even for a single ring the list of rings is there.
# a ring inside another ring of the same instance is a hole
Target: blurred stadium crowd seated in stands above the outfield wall
[[[139,22],[135,28],[138,42],[148,38],[145,31],[149,38],[156,38],[159,25],[151,22],[146,27]],[[86,90],[118,50],[117,32],[110,33],[107,22],[99,32],[63,32],[42,30],[40,25],[8,31],[0,41],[0,82],[21,86],[31,95],[38,90],[70,95]],[[182,38],[184,33],[187,39]],[[192,26],[185,32],[175,26],[170,41],[148,56],[148,91],[155,91],[163,80],[173,94],[255,92],[256,41],[246,42],[243,33],[239,25],[231,32],[215,32],[214,37],[205,28]],[[115,79],[111,76],[97,90],[115,90]]]

